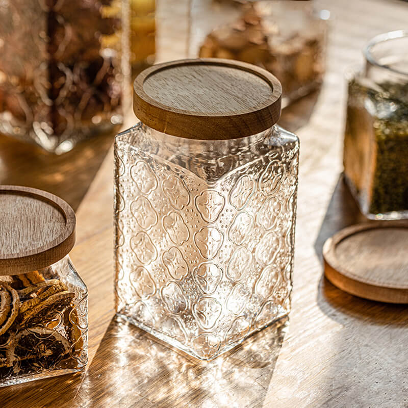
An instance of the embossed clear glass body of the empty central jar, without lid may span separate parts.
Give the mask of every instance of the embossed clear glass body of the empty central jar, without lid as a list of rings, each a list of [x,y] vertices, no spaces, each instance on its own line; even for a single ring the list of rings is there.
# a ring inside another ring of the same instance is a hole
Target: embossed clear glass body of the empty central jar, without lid
[[[116,310],[202,360],[290,310],[299,142],[115,141]]]

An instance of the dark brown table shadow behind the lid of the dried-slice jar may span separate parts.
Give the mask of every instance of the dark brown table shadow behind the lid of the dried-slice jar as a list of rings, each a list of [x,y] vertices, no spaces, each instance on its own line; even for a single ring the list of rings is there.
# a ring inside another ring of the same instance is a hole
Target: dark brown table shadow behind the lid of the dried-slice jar
[[[77,210],[113,143],[115,132],[85,140],[61,155],[0,135],[0,184],[35,187]]]

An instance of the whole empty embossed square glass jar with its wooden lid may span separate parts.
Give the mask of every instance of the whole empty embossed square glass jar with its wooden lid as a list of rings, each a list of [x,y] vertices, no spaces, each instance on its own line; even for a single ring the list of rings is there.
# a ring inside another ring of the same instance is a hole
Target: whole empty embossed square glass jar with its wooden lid
[[[219,59],[135,81],[115,141],[116,310],[202,360],[290,310],[298,138],[281,86]]]

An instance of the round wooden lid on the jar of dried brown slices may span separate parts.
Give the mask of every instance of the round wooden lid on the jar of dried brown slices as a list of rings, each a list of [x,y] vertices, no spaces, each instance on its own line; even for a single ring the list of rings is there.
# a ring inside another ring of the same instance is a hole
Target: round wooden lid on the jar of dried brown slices
[[[75,242],[75,213],[61,198],[22,186],[0,186],[0,275],[45,268]]]

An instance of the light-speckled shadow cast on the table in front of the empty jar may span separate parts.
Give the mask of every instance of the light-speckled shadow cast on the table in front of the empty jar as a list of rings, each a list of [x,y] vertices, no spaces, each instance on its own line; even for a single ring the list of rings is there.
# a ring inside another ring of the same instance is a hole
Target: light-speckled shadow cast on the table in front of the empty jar
[[[114,317],[70,406],[262,406],[287,326],[201,362]]]

